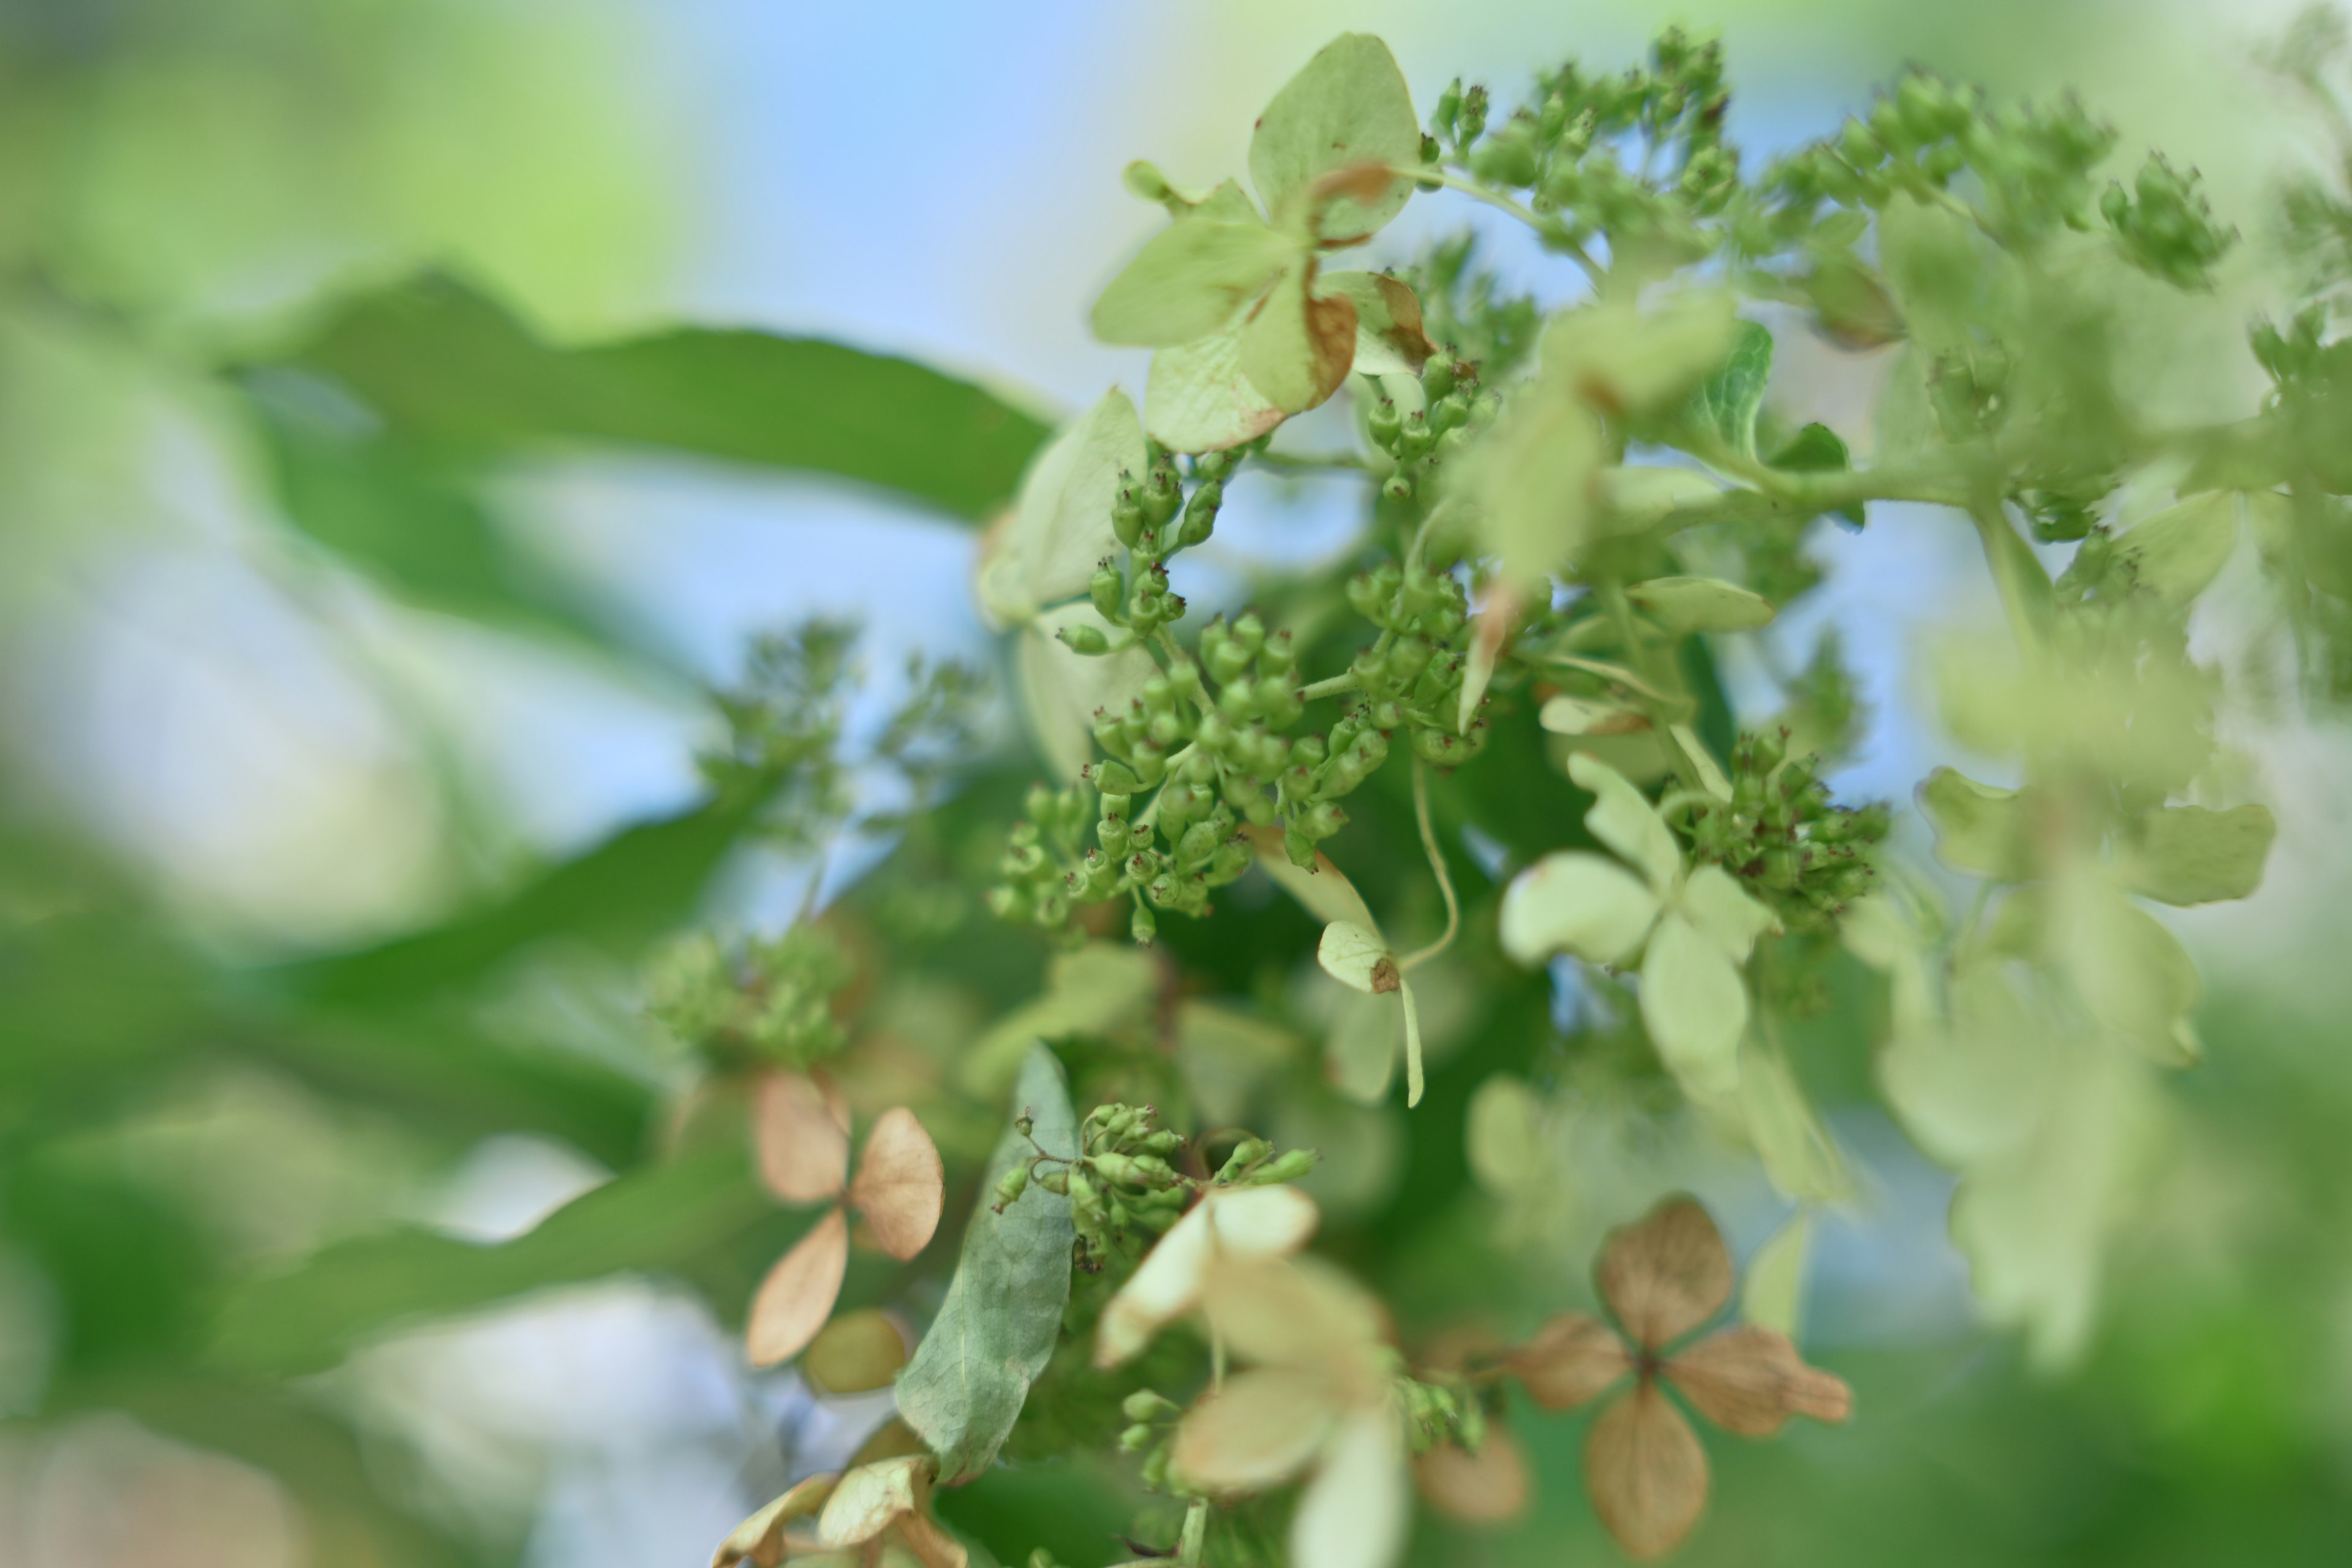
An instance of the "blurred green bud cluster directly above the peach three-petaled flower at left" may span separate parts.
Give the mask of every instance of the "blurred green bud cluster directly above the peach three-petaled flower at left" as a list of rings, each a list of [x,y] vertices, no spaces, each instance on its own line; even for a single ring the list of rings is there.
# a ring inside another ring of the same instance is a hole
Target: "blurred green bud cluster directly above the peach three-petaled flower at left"
[[[833,997],[849,954],[823,926],[724,947],[694,933],[666,947],[647,978],[647,1013],[720,1067],[807,1067],[849,1044]]]

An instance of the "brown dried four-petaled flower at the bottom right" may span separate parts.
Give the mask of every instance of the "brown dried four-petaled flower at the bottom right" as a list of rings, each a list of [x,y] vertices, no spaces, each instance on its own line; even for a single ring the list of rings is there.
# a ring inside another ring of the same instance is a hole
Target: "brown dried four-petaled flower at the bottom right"
[[[1599,1399],[1632,1373],[1632,1387],[1585,1439],[1585,1486],[1602,1523],[1635,1556],[1672,1552],[1708,1505],[1708,1450],[1665,1385],[1736,1436],[1771,1436],[1790,1415],[1846,1420],[1853,1406],[1844,1380],[1806,1366],[1785,1335],[1759,1324],[1675,1349],[1724,1309],[1731,1274],[1708,1211],[1665,1199],[1602,1246],[1597,1284],[1616,1326],[1564,1312],[1505,1361],[1548,1410]]]

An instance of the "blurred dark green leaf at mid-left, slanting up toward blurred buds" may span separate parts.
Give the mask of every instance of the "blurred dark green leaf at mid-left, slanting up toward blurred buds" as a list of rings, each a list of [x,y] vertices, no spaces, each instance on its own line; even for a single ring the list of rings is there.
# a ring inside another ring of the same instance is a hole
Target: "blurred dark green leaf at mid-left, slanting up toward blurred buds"
[[[273,978],[306,1001],[348,1006],[470,985],[550,938],[633,952],[694,914],[762,804],[760,795],[713,799],[623,827],[482,910],[379,947],[287,964]]]

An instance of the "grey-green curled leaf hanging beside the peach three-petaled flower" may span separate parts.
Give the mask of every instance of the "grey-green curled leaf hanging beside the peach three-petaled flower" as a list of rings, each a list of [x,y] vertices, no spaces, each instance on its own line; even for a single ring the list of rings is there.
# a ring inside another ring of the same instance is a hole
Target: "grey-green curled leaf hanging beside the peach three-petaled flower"
[[[1044,1152],[1077,1154],[1070,1088],[1044,1046],[1021,1065],[1014,1114],[1033,1117],[1030,1135]],[[1030,1154],[1030,1140],[1014,1128],[997,1140],[948,1300],[898,1373],[898,1415],[938,1455],[946,1486],[995,1462],[1061,1338],[1077,1241],[1070,1199],[1033,1182],[1004,1213],[990,1208],[997,1180]]]

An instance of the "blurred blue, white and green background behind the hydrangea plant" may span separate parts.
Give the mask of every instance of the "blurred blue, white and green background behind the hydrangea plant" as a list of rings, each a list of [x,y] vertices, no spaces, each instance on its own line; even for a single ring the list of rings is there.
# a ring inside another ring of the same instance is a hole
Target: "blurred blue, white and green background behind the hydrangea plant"
[[[386,1335],[249,1418],[179,1371],[191,1281],[395,1222],[510,1237],[626,1150],[494,1112],[419,1126],[365,1074],[325,1093],[266,1051],[219,1051],[209,1025],[172,1023],[176,966],[233,983],[362,947],[687,809],[703,689],[757,630],[861,618],[882,696],[908,649],[993,658],[969,529],[607,449],[496,475],[501,559],[564,614],[456,614],[287,524],[221,364],[430,266],[557,341],[816,334],[1054,418],[1112,381],[1141,390],[1141,357],[1084,331],[1155,223],[1120,167],[1240,169],[1256,106],[1341,28],[1385,35],[1425,106],[1451,75],[1510,94],[1569,54],[1621,63],[1661,21],[1719,26],[1752,155],[1835,129],[1907,61],[2074,87],[2126,162],[2161,146],[2199,165],[2258,235],[2265,183],[2312,153],[2251,63],[2291,9],[0,0],[0,1563],[699,1563],[783,1455],[870,1418],[748,1375],[703,1300],[659,1276]],[[1421,200],[1381,259],[1461,223],[1477,216]],[[1562,296],[1510,233],[1491,247]],[[2258,277],[2230,287],[2251,310]],[[2244,400],[2241,369],[2183,397]],[[1851,367],[1799,364],[1795,386],[1816,416],[1858,418]],[[1355,503],[1237,491],[1195,592],[1343,548]],[[1976,545],[1886,508],[1820,550],[1830,583],[1773,635],[1802,658],[1842,628],[1877,715],[1842,788],[1900,799],[1945,759],[1919,651],[1992,614]],[[2260,668],[2251,578],[2218,597],[2204,646]],[[2211,1065],[2176,1086],[2091,1359],[2037,1375],[1978,1328],[1943,1178],[1842,1112],[1877,1187],[1823,1241],[1816,1345],[1877,1403],[1835,1439],[1726,1462],[1693,1561],[2352,1561],[2352,748],[2284,679],[2241,696],[2230,741],[2281,851],[2253,903],[2183,919]],[[774,929],[809,875],[750,858],[708,912]],[[136,919],[71,950],[24,936],[92,910]],[[630,971],[555,969],[482,1027],[656,1086]],[[158,1034],[193,1044],[82,1074]],[[1726,1201],[1752,1246],[1771,1215]],[[1566,1479],[1557,1441],[1541,1460]],[[1519,1547],[1421,1549],[1604,1552],[1573,1486],[1552,1493]]]

